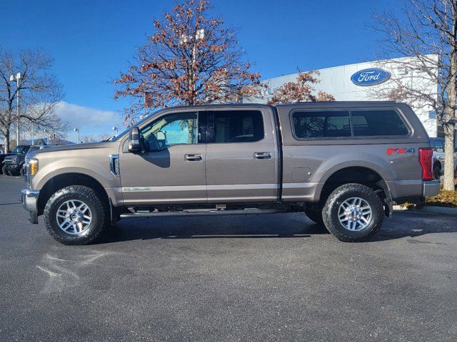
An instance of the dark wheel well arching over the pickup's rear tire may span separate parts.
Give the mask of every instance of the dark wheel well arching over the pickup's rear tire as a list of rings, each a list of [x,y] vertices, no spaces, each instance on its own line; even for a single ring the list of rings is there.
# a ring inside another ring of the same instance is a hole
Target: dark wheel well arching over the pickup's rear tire
[[[347,183],[358,183],[373,189],[384,202],[388,196],[388,186],[378,172],[368,167],[345,167],[333,173],[323,185],[320,204],[323,205],[328,195],[337,187]]]

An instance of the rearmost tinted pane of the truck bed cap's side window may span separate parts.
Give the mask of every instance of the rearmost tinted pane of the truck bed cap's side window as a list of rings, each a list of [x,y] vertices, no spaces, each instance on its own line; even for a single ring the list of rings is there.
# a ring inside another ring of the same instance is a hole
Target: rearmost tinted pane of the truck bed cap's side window
[[[408,135],[409,130],[395,110],[352,110],[354,136]]]

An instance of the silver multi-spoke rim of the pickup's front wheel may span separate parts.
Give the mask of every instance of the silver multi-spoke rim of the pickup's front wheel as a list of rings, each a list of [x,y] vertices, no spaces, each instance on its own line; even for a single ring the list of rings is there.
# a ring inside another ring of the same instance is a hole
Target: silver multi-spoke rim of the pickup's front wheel
[[[81,234],[92,222],[91,209],[79,199],[70,199],[57,209],[56,220],[59,228],[67,234]]]

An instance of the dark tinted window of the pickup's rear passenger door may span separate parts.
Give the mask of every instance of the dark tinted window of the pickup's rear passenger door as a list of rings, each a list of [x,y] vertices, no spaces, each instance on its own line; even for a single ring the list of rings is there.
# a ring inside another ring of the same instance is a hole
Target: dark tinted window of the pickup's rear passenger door
[[[209,142],[255,142],[263,139],[263,118],[258,110],[214,111],[214,137]]]

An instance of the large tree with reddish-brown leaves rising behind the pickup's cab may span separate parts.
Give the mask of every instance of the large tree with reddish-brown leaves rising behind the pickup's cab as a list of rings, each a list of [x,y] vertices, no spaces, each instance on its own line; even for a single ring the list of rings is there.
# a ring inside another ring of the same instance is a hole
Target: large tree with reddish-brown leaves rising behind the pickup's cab
[[[238,47],[235,30],[221,18],[209,17],[211,2],[185,0],[164,20],[154,20],[155,33],[138,48],[129,71],[114,81],[126,96],[128,125],[154,108],[241,100],[260,94],[259,73],[250,71]]]

